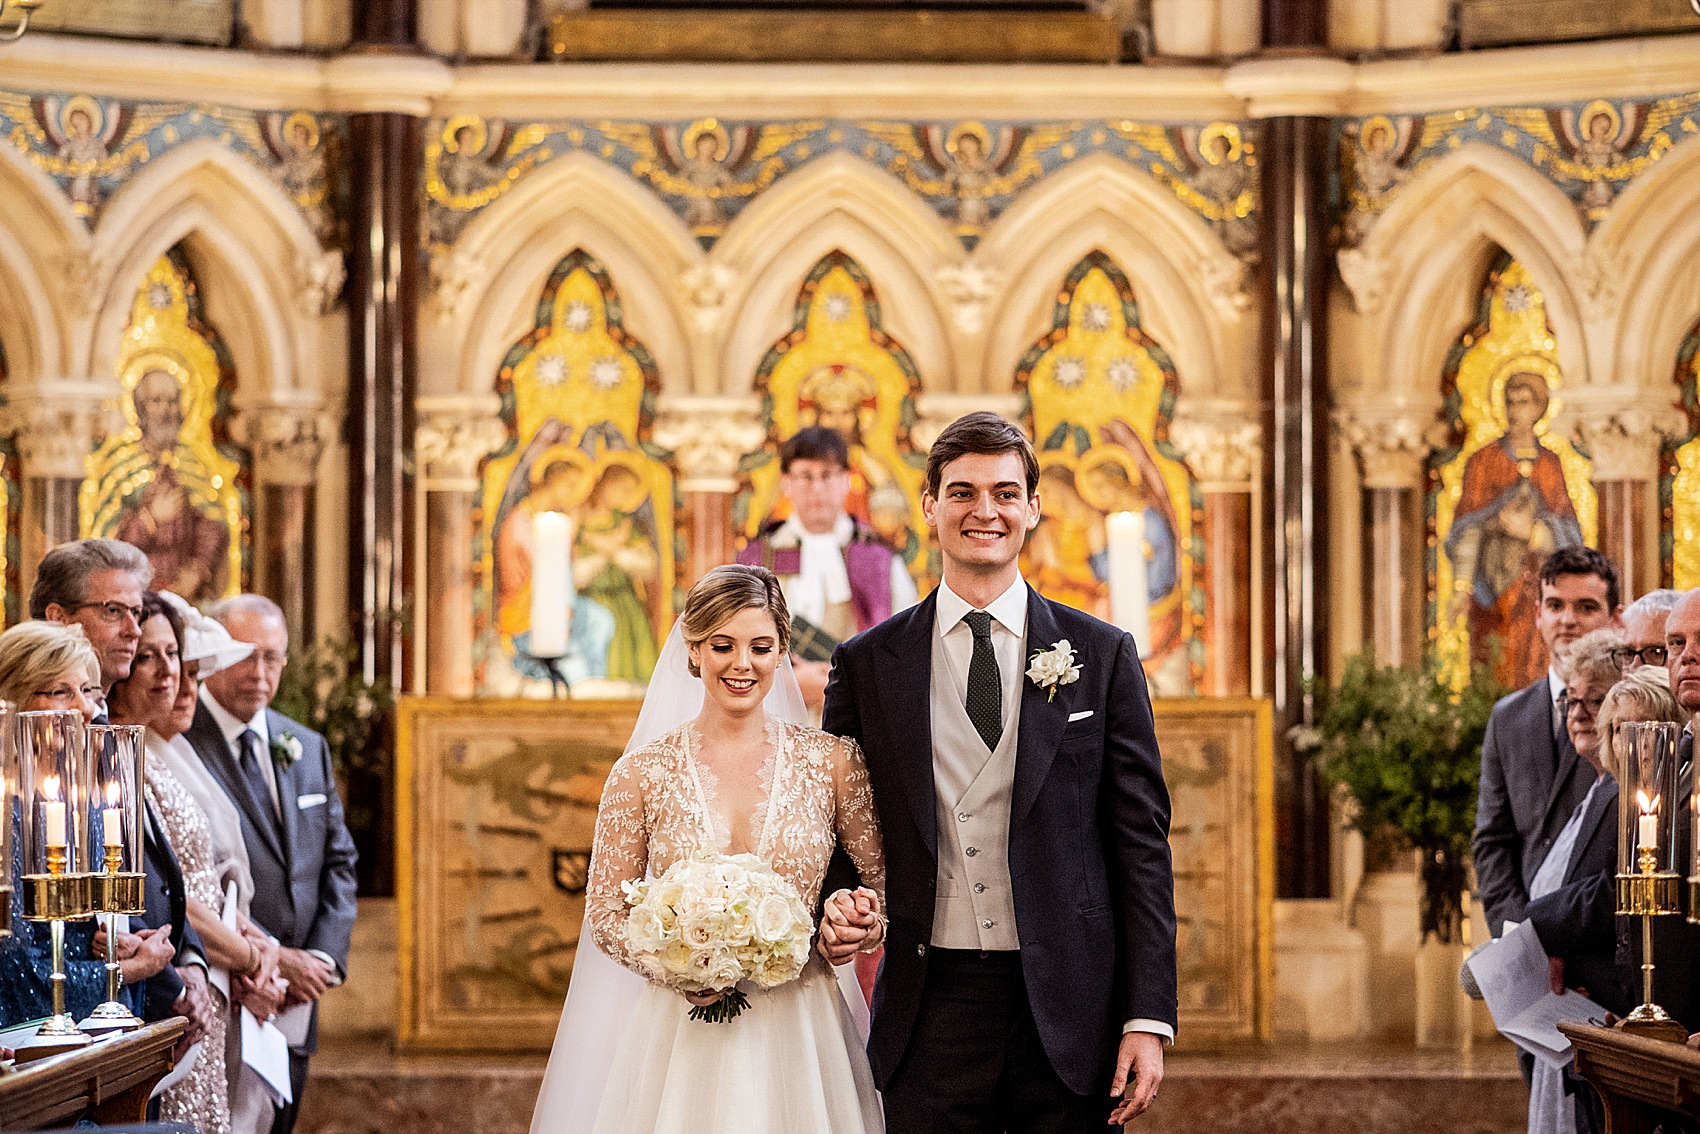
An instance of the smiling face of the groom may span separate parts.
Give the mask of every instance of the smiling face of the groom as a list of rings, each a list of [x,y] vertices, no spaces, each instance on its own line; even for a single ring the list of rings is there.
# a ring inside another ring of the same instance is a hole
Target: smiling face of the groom
[[[969,452],[938,474],[938,496],[921,493],[928,527],[938,530],[945,563],[978,575],[1000,571],[1022,554],[1039,525],[1039,493],[1027,495],[1027,469],[1013,452]]]

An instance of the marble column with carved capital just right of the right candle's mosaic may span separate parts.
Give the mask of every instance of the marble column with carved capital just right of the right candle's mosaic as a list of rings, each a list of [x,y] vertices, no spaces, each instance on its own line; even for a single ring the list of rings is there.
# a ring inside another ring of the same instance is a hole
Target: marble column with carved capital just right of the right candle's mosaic
[[[1246,410],[1253,415],[1255,410]],[[1256,493],[1261,435],[1251,422],[1176,420],[1175,447],[1198,478],[1204,496],[1205,632],[1212,644],[1209,697],[1250,697],[1253,605],[1256,598]]]

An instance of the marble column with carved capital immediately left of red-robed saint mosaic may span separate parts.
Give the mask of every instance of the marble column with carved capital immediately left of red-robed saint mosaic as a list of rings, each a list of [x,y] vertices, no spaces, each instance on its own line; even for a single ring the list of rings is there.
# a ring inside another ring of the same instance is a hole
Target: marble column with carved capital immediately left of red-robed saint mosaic
[[[1363,626],[1377,665],[1425,660],[1428,564],[1423,512],[1428,445],[1416,417],[1343,411],[1336,423],[1358,459],[1363,508]]]

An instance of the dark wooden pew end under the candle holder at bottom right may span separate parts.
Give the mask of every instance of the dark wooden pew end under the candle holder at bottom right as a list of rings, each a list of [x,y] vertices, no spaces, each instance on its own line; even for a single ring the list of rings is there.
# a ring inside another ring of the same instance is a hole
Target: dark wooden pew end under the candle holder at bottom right
[[[1673,1115],[1700,1122],[1700,1051],[1591,1023],[1559,1030],[1576,1051],[1578,1074],[1605,1098],[1610,1134],[1654,1134]]]

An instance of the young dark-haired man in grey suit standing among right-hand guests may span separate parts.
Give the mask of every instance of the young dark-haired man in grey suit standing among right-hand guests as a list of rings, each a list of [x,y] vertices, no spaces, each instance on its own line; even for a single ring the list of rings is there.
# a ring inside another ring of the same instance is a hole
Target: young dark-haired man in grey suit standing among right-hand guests
[[[1522,921],[1528,884],[1559,830],[1595,782],[1559,716],[1564,683],[1552,656],[1588,631],[1617,624],[1617,570],[1593,547],[1561,547],[1540,568],[1535,626],[1547,644],[1547,675],[1494,706],[1482,738],[1476,801],[1476,889],[1488,930]]]

